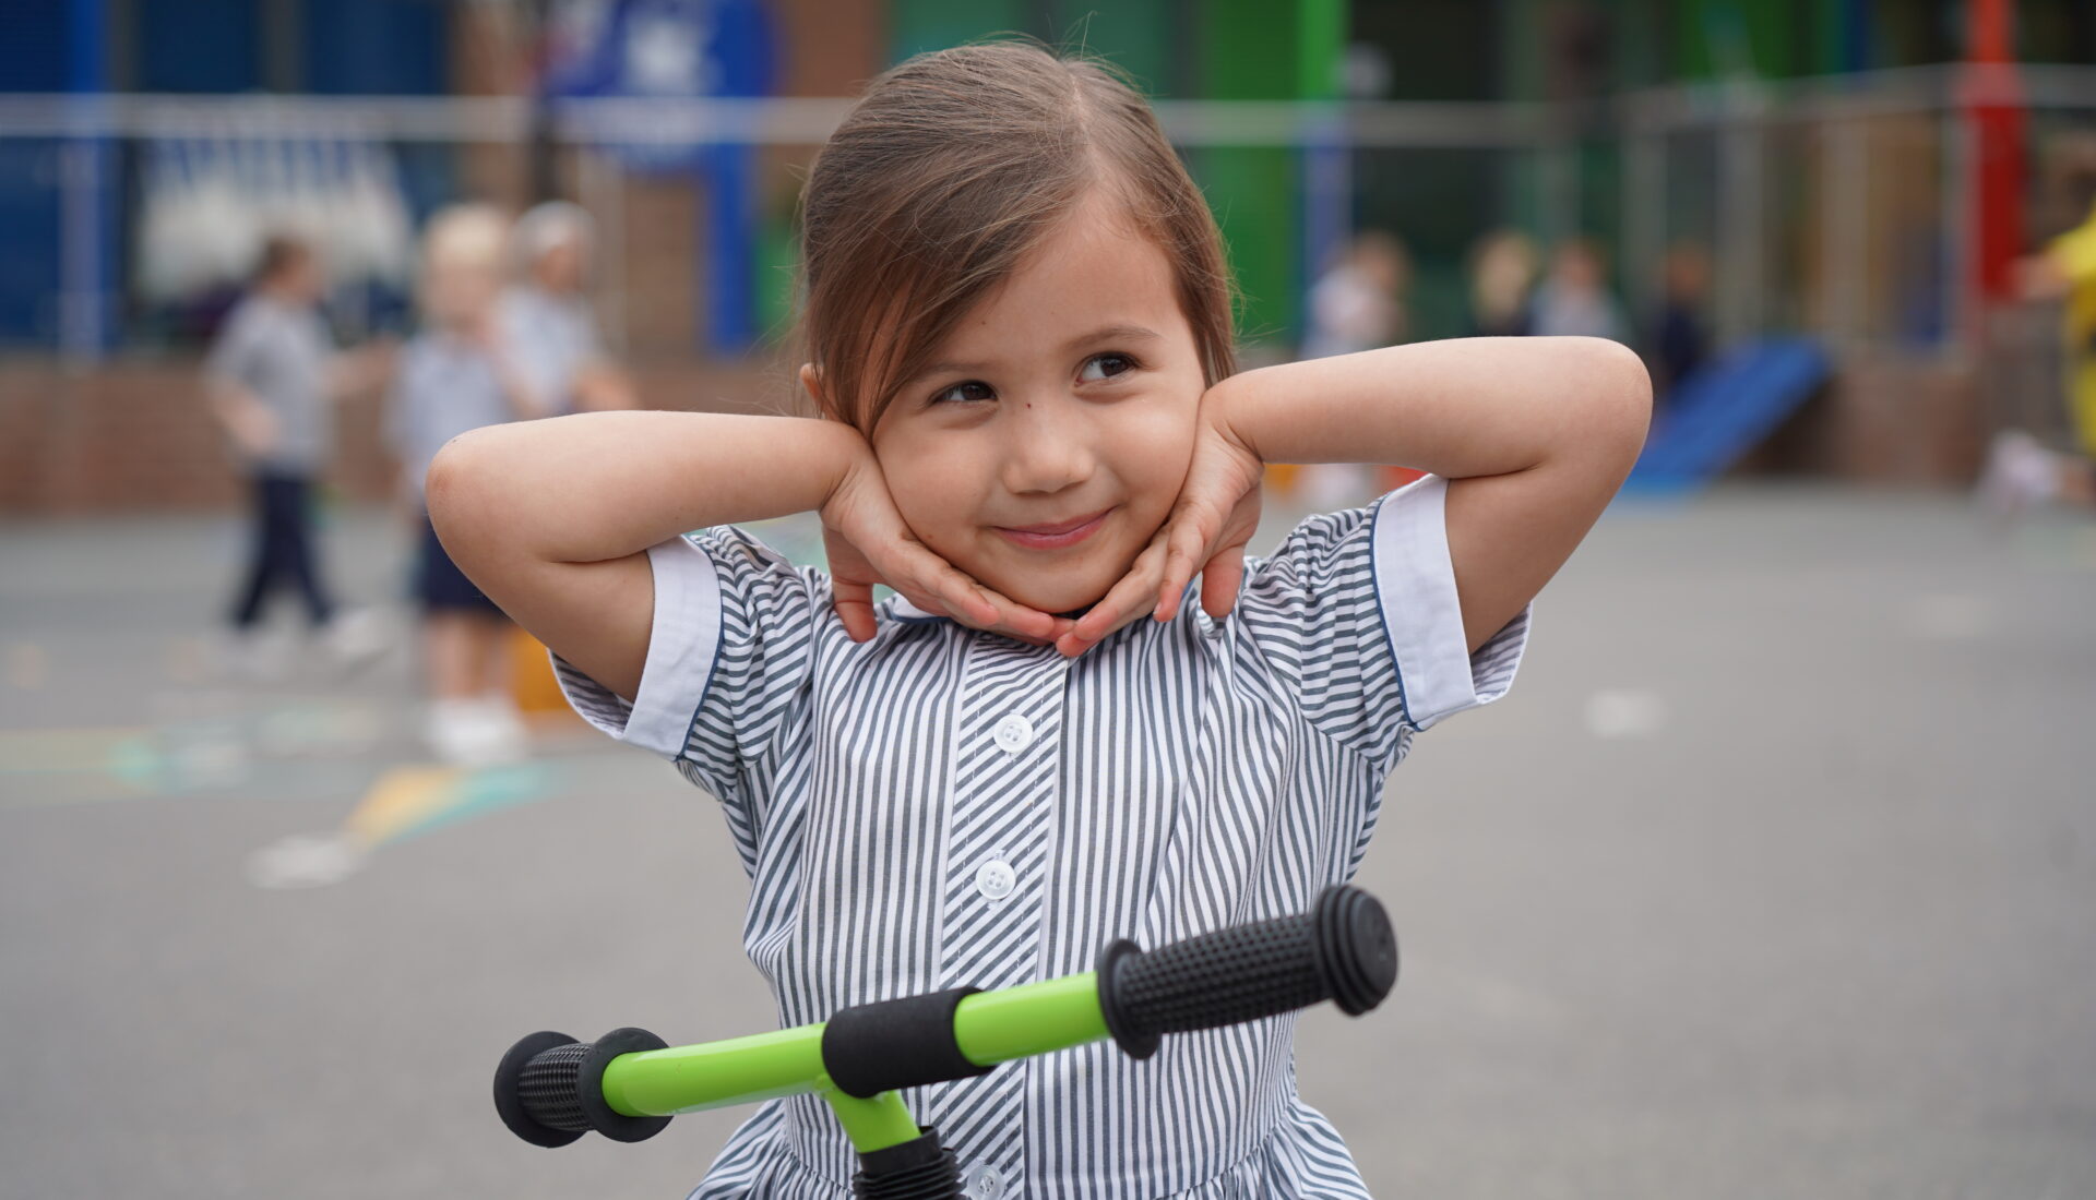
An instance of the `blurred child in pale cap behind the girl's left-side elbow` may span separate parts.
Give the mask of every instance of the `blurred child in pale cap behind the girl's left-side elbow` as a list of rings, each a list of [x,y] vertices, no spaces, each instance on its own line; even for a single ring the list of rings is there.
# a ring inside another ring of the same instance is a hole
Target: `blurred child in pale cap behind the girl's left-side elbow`
[[[589,310],[593,241],[589,214],[568,201],[526,212],[511,237],[522,279],[503,293],[501,333],[553,415],[635,406]]]

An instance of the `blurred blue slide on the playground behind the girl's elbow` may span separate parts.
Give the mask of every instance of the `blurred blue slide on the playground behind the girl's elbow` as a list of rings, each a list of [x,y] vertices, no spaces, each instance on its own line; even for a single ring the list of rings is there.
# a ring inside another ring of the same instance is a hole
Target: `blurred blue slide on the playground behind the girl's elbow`
[[[1624,490],[1668,494],[1708,484],[1811,400],[1830,366],[1826,350],[1805,337],[1727,352],[1675,390]]]

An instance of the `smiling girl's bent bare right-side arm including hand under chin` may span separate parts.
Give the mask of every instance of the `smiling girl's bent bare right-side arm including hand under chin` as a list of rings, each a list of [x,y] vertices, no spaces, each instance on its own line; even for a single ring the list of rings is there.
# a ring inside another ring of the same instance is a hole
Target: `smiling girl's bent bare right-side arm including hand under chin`
[[[1448,555],[1478,649],[1608,507],[1650,415],[1643,362],[1595,337],[1427,341],[1224,379],[1201,400],[1201,440],[1153,547],[1155,574],[1138,578],[1138,559],[1126,588],[1077,622],[1065,653],[1111,632],[1134,603],[1167,618],[1195,572],[1201,605],[1226,614],[1251,536],[1243,505],[1264,463],[1385,463],[1450,480]]]

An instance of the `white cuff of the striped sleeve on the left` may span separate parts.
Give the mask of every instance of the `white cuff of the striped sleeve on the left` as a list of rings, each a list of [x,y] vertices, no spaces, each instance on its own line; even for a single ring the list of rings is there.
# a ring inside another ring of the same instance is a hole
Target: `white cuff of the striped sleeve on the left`
[[[681,758],[721,651],[721,576],[713,557],[690,538],[648,547],[648,565],[654,624],[633,704],[558,655],[553,674],[583,720],[629,746]]]

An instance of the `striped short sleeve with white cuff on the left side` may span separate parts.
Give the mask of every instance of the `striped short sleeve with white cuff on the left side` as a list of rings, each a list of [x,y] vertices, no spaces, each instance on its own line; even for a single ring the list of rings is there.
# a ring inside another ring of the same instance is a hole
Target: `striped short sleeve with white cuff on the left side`
[[[725,526],[652,547],[648,565],[654,624],[633,702],[560,655],[553,672],[599,731],[736,800],[807,689],[828,580]]]

